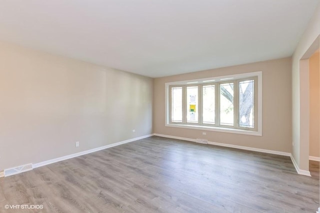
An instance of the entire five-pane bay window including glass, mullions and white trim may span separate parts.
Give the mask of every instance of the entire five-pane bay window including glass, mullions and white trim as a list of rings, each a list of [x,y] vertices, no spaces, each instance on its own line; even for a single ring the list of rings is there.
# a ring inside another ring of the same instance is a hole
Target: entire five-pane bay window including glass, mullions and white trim
[[[166,126],[261,135],[262,73],[166,83]]]

